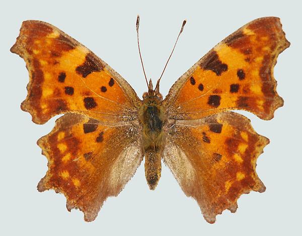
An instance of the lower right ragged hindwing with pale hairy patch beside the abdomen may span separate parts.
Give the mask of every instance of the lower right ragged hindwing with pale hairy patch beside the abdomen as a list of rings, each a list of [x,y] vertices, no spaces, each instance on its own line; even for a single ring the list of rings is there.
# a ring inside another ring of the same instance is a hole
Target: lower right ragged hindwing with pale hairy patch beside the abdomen
[[[269,140],[245,116],[228,111],[170,125],[164,162],[208,222],[224,209],[235,212],[243,193],[265,191],[256,160]]]

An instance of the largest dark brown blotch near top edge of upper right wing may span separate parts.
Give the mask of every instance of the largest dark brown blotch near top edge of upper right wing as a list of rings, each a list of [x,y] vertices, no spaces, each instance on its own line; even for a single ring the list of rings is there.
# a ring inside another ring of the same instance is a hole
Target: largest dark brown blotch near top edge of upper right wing
[[[228,65],[219,60],[218,54],[214,50],[207,55],[206,59],[200,64],[200,67],[204,70],[211,70],[216,75],[221,75],[222,72],[228,70]]]

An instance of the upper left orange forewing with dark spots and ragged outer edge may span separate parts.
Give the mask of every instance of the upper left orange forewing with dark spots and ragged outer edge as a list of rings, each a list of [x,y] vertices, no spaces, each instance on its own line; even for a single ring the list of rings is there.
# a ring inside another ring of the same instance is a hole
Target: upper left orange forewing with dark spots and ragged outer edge
[[[26,61],[30,82],[21,108],[31,113],[33,122],[44,124],[66,112],[106,122],[136,119],[141,101],[131,86],[54,26],[25,21],[11,51]]]

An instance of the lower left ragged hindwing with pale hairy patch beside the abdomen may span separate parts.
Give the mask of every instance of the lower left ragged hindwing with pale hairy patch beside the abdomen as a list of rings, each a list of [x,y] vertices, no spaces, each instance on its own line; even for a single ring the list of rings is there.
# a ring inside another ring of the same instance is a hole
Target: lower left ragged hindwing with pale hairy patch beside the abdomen
[[[109,196],[117,196],[142,161],[139,128],[118,123],[104,126],[87,116],[65,114],[38,141],[48,159],[39,191],[54,189],[77,207],[85,220],[97,216]]]

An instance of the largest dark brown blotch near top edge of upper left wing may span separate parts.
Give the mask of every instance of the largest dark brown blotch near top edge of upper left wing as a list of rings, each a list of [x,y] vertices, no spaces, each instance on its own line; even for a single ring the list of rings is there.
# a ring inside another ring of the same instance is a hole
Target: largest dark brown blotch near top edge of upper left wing
[[[88,53],[85,57],[85,61],[82,65],[75,68],[75,71],[86,78],[92,72],[98,72],[103,70],[103,65],[95,59],[92,53]]]

